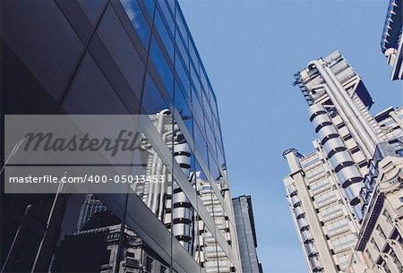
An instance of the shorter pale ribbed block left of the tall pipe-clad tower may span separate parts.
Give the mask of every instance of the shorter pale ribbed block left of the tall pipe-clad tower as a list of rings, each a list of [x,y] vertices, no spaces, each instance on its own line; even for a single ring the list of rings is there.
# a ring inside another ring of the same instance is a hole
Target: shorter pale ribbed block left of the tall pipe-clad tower
[[[288,205],[309,272],[343,272],[358,226],[319,142],[314,145],[306,157],[296,149],[284,154],[291,168],[284,179]]]

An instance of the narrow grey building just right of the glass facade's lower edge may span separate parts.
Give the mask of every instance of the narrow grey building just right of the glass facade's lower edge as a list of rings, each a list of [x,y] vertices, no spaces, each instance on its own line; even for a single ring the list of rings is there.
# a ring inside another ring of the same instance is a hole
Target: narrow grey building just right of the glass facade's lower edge
[[[232,199],[236,218],[239,252],[244,273],[262,273],[262,264],[257,257],[258,246],[253,218],[252,198],[243,195]]]

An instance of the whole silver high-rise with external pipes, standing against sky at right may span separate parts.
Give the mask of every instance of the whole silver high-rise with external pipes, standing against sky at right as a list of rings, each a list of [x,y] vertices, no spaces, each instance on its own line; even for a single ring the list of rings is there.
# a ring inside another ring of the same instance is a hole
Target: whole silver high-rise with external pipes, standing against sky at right
[[[338,51],[296,73],[317,139],[283,153],[287,200],[310,272],[346,272],[368,210],[364,178],[379,143],[401,135],[401,109],[371,115],[373,99]]]

